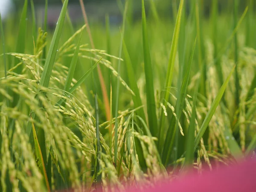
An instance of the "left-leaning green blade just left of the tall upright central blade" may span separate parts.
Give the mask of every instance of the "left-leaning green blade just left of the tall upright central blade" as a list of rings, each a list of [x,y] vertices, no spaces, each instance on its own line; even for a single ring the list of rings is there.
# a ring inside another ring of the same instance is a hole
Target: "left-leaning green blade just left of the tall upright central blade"
[[[127,47],[125,45],[125,41],[123,41],[123,52],[124,52],[124,58],[125,58],[126,73],[128,75],[131,90],[133,90],[134,94],[135,94],[135,95],[132,96],[132,99],[133,99],[133,102],[134,102],[134,108],[138,108],[138,107],[142,106],[142,101],[141,101],[141,98],[140,98],[140,91],[139,91],[139,88],[138,88],[138,85],[137,85],[137,78],[136,78],[135,73],[134,73],[134,69],[133,69],[133,66],[132,66],[132,63],[131,63],[131,58],[130,58],[130,55],[128,53]],[[145,121],[146,118],[145,118],[145,113],[143,111],[143,108],[140,108],[137,111],[137,114],[139,116],[141,116],[142,119]]]

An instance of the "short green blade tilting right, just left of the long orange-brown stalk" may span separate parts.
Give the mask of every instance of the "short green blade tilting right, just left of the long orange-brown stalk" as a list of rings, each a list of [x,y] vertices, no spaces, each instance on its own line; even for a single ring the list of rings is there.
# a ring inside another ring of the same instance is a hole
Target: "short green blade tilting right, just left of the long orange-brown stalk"
[[[73,58],[72,58],[72,61],[71,61],[71,64],[70,64],[70,68],[68,70],[67,80],[66,80],[65,85],[64,85],[64,90],[65,91],[68,91],[70,89],[70,85],[71,85],[71,82],[72,82],[72,79],[73,79],[73,76],[74,76],[74,73],[75,73],[75,70],[76,70],[76,63],[78,61],[78,55],[79,55],[82,33],[83,33],[83,31],[81,31],[81,35],[80,35],[79,41],[77,43],[77,46],[76,46],[76,49],[75,49],[75,52],[74,52],[74,55],[73,55]]]

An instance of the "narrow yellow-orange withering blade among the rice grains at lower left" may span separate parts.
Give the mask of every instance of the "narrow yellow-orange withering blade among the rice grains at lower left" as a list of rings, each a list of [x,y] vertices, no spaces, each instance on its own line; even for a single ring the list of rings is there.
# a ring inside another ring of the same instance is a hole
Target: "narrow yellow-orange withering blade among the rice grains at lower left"
[[[39,145],[39,142],[38,142],[38,137],[36,135],[35,126],[34,126],[33,122],[32,122],[32,130],[33,130],[33,137],[34,137],[34,142],[35,142],[36,158],[38,158],[39,168],[40,168],[41,174],[44,176],[44,180],[45,180],[47,189],[50,192],[50,186],[49,186],[49,182],[48,182],[48,178],[47,178],[46,169],[45,169],[45,166],[44,166],[44,159],[43,159],[42,151],[41,151],[41,148],[40,148],[40,145]]]

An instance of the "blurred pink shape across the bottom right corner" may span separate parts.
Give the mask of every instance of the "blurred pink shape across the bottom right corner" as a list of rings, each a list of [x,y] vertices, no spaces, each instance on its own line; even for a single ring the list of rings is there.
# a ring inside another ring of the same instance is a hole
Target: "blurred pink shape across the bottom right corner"
[[[99,190],[100,191],[100,190]],[[98,191],[98,192],[99,192]],[[154,187],[129,188],[125,192],[256,192],[256,159],[224,166],[202,175],[195,173]]]

